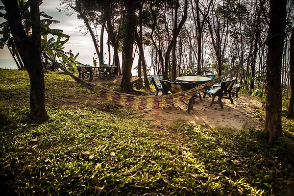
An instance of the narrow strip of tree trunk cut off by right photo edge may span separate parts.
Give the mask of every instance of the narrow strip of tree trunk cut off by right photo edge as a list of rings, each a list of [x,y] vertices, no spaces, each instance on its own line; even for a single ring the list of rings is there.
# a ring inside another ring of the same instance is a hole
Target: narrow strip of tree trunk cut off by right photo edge
[[[288,104],[288,116],[294,118],[294,28],[290,39],[290,95]]]

